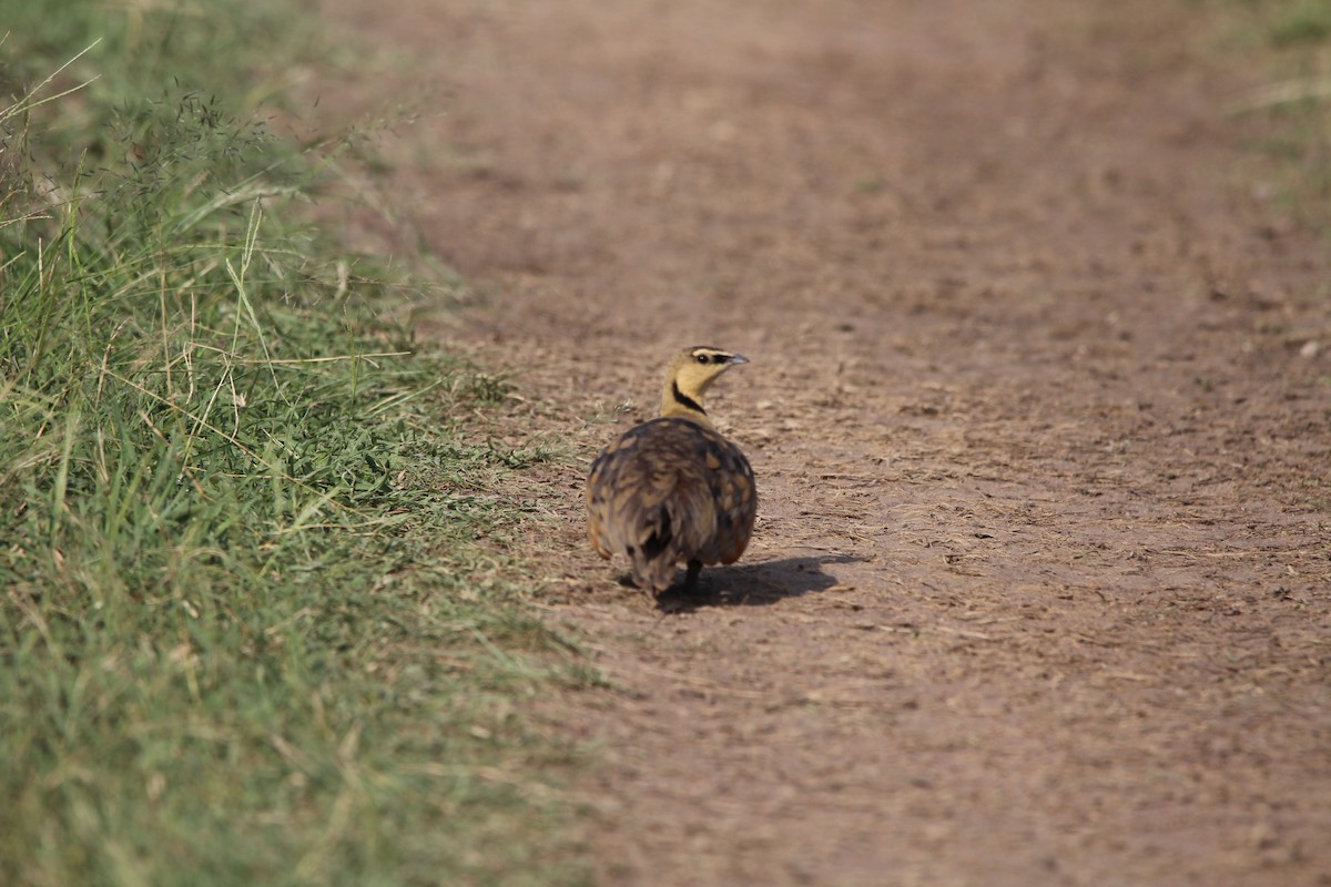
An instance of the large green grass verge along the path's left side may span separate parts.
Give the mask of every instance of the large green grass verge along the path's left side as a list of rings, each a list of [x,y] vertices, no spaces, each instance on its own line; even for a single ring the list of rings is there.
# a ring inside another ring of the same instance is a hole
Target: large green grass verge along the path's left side
[[[291,11],[41,5],[0,3],[0,883],[582,882],[494,544],[543,453],[302,226],[326,158],[253,117]]]

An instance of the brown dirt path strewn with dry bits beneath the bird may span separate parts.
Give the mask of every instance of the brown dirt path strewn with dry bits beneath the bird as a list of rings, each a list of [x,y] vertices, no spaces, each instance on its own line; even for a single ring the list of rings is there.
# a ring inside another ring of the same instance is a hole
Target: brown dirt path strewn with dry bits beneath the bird
[[[599,883],[1331,884],[1331,269],[1218,110],[1263,72],[1146,3],[325,5],[433,59],[373,85],[450,96],[399,198],[531,434],[753,360],[699,605],[526,493]]]

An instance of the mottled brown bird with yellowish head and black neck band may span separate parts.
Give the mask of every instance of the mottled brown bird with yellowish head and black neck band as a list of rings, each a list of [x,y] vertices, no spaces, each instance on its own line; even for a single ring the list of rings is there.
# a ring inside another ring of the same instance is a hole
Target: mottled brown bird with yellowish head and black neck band
[[[753,469],[703,408],[712,383],[748,362],[708,346],[680,351],[666,370],[660,416],[626,431],[591,464],[592,548],[606,560],[626,556],[634,584],[652,597],[672,585],[680,563],[692,589],[704,564],[733,564],[753,535]]]

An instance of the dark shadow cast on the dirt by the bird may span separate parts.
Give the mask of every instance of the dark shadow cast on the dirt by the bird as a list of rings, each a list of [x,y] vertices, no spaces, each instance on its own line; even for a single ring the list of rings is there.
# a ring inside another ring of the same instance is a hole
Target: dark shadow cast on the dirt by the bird
[[[869,560],[858,555],[816,555],[783,557],[761,564],[709,567],[692,589],[676,582],[656,597],[656,609],[666,613],[692,612],[704,606],[771,606],[788,597],[824,592],[837,584],[824,570],[828,564],[855,564]]]

